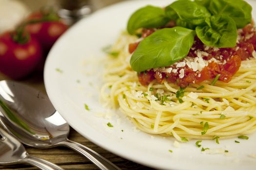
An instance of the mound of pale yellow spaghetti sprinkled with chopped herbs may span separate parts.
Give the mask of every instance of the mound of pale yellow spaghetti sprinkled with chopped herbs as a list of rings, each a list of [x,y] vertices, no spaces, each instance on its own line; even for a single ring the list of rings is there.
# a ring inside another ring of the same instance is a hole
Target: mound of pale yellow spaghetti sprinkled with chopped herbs
[[[136,39],[123,33],[113,46],[118,56],[109,58],[101,99],[112,108],[119,106],[139,130],[179,141],[226,139],[256,131],[256,59],[242,61],[228,83],[205,80],[180,88],[153,80],[143,86],[129,63],[128,45]]]

